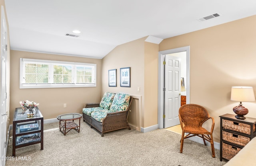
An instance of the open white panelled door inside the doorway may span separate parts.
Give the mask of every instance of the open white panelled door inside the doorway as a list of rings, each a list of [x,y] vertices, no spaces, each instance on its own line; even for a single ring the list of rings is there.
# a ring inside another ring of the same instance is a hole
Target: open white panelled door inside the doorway
[[[180,124],[180,57],[165,55],[164,128]]]

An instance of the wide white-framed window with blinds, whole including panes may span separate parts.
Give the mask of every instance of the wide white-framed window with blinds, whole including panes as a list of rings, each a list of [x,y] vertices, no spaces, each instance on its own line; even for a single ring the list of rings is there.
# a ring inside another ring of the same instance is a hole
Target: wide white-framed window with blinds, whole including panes
[[[20,59],[20,88],[95,87],[96,64]]]

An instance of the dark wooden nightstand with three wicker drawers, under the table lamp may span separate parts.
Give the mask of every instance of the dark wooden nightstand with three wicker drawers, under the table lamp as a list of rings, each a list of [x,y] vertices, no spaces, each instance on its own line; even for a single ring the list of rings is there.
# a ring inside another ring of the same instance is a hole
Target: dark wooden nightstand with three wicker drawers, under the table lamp
[[[220,116],[220,161],[230,160],[256,136],[256,119],[236,119],[235,115]]]

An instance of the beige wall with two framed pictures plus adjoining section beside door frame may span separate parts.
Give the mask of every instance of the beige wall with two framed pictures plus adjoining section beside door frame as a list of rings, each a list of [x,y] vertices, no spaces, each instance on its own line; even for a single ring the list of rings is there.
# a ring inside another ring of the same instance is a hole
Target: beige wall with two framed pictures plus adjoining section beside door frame
[[[104,92],[124,92],[142,97],[140,125],[143,128],[157,125],[158,44],[145,42],[147,37],[119,45],[102,59],[102,95]],[[120,87],[120,68],[131,67],[131,87]],[[117,69],[117,87],[108,86],[108,70]],[[140,87],[140,92],[137,88]],[[128,122],[139,124],[138,100],[132,102]]]

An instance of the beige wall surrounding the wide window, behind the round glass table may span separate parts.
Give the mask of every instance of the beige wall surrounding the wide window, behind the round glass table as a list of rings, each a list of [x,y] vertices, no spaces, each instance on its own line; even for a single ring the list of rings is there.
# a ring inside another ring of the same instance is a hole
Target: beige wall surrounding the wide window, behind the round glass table
[[[101,100],[101,59],[32,53],[25,51],[11,51],[11,78],[10,78],[10,119],[12,121],[14,110],[20,107],[20,101],[34,101],[44,119],[56,118],[63,113],[82,113],[86,103],[100,102]],[[44,59],[53,61],[69,61],[97,64],[97,87],[86,88],[42,88],[20,89],[20,58]],[[67,107],[64,108],[63,104]]]

